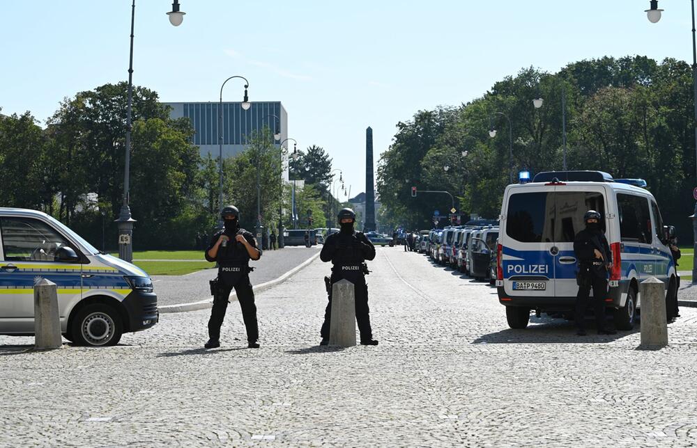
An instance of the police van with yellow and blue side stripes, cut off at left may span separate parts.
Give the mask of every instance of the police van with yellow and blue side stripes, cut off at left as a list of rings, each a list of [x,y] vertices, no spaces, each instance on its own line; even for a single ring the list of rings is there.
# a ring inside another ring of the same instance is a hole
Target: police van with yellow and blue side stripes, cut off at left
[[[51,216],[0,208],[0,334],[33,335],[33,285],[58,287],[63,337],[81,345],[118,343],[123,332],[158,322],[148,275],[93,248]]]

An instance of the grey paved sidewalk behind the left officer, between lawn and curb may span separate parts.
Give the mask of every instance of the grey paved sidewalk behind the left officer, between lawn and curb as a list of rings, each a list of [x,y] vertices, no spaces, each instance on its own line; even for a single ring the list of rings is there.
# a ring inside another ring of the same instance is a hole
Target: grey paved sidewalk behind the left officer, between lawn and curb
[[[321,250],[317,246],[286,247],[282,250],[266,250],[258,262],[250,262],[252,285],[268,282],[290,271]],[[203,257],[203,251],[201,251]],[[215,269],[203,269],[188,275],[153,275],[153,285],[159,305],[178,305],[210,298],[208,280],[215,278]]]

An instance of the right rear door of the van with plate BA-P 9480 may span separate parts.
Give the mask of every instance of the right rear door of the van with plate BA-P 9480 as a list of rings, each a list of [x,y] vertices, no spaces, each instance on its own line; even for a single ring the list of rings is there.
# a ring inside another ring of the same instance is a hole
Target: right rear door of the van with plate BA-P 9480
[[[585,228],[583,215],[588,210],[599,211],[600,226],[606,232],[606,189],[603,184],[559,185],[555,191],[556,217],[554,220],[554,289],[557,297],[574,297],[578,260],[574,253],[574,237]],[[608,241],[610,236],[606,234]]]

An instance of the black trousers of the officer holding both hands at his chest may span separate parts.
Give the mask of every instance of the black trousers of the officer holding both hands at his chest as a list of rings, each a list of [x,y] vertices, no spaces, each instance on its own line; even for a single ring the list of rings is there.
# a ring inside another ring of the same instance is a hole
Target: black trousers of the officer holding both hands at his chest
[[[218,292],[213,297],[213,309],[210,310],[208,337],[215,341],[220,340],[220,327],[225,318],[230,292],[233,288],[235,288],[237,301],[242,308],[242,318],[245,321],[245,328],[247,328],[247,341],[256,342],[259,339],[259,325],[256,322],[254,291],[252,291],[248,273],[240,275],[218,274]]]

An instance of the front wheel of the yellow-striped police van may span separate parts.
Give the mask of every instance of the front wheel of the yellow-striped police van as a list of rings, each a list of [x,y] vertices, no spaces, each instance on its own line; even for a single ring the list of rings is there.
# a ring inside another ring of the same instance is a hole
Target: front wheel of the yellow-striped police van
[[[94,303],[77,312],[70,333],[77,345],[112,346],[121,339],[123,325],[113,307]]]

